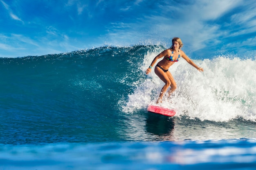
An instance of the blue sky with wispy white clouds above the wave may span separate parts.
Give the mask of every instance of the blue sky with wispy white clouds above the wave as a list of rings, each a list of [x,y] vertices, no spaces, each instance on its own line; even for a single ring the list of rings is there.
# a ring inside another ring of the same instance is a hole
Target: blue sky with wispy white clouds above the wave
[[[255,0],[0,0],[0,57],[171,45],[193,58],[256,51]]]

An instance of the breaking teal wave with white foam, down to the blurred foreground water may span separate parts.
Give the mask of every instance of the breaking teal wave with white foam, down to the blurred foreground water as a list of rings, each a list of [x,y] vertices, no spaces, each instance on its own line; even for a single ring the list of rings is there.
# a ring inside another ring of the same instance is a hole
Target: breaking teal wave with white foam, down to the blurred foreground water
[[[173,127],[191,123],[218,124],[214,138],[223,127],[247,127],[248,122],[254,126],[256,62],[225,55],[193,60],[203,73],[183,59],[175,63],[169,71],[177,90],[171,99],[164,98],[163,105],[175,108],[176,115],[153,124],[158,118],[148,117],[146,107],[156,101],[164,84],[155,73],[144,72],[162,50],[163,46],[105,46],[0,58],[1,143],[158,141],[170,139],[166,134]],[[211,139],[206,133],[195,139]],[[175,135],[172,140],[191,139],[189,134]]]

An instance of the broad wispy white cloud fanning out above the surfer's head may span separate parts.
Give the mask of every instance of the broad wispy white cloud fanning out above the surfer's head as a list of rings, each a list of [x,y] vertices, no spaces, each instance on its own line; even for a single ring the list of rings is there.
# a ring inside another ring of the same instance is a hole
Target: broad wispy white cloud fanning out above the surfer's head
[[[178,36],[182,38],[186,46],[190,46],[190,51],[198,51],[206,48],[210,42],[212,46],[220,43],[218,38],[228,33],[222,31],[221,25],[218,25],[215,20],[243,4],[243,1],[196,0],[193,3],[175,6],[173,6],[173,3],[168,3],[166,1],[166,3],[155,7],[157,13],[141,15],[140,18],[136,18],[130,23],[116,22],[110,27],[107,26],[109,30],[108,37],[112,37],[112,40],[123,41],[121,38],[126,35],[123,27],[129,25],[130,29],[126,30],[126,32],[129,32],[129,36],[127,34],[126,40],[130,42],[132,37],[133,40],[150,37],[152,39],[171,40],[174,36]]]

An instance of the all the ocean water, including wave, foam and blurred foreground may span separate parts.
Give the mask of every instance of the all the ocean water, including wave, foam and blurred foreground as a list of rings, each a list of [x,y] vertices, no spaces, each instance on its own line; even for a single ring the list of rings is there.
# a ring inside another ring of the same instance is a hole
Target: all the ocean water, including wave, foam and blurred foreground
[[[165,107],[146,68],[163,46],[0,58],[0,169],[256,168],[255,57],[181,60]]]

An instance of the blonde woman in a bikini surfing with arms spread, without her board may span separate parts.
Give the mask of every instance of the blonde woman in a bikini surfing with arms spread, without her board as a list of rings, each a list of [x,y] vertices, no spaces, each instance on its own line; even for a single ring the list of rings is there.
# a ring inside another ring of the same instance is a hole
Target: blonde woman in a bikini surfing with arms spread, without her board
[[[162,53],[158,54],[152,63],[150,64],[149,68],[146,70],[146,74],[151,72],[152,66],[157,62],[159,58],[163,58],[163,60],[159,61],[155,66],[155,74],[165,83],[164,87],[162,88],[160,95],[157,99],[157,104],[162,102],[162,98],[164,93],[167,91],[168,87],[171,88],[168,91],[168,97],[170,97],[171,93],[173,93],[176,89],[176,82],[173,79],[173,75],[168,71],[169,67],[172,66],[175,62],[178,62],[180,57],[184,58],[186,62],[191,64],[195,67],[198,71],[204,71],[203,68],[198,67],[182,50],[183,44],[180,38],[173,38],[172,46],[170,49],[164,50]]]

